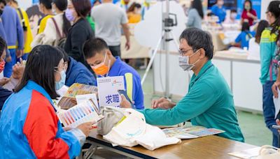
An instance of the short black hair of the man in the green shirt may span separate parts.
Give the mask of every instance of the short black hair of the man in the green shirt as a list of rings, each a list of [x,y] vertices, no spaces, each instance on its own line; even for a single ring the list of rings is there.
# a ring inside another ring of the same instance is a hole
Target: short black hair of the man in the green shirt
[[[188,28],[181,33],[180,40],[185,39],[190,47],[193,47],[194,52],[201,48],[205,50],[205,56],[208,59],[213,58],[214,46],[212,37],[207,31],[202,31],[197,28]]]

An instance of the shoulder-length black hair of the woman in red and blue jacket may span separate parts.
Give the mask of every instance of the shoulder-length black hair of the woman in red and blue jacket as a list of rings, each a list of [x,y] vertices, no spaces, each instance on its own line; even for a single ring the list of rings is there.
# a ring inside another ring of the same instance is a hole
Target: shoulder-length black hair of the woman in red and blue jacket
[[[56,99],[59,97],[57,91],[55,91],[55,70],[62,58],[62,52],[50,45],[34,47],[27,58],[25,72],[20,85],[15,89],[15,93],[18,93],[29,80],[32,80],[42,86],[50,95],[50,98]]]

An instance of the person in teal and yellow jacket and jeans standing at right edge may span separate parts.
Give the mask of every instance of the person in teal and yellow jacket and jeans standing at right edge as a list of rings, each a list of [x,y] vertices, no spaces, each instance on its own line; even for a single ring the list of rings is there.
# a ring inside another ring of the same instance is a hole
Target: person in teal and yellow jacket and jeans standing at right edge
[[[279,40],[280,27],[280,1],[271,1],[267,7],[266,15],[269,27],[262,31],[260,37],[260,66],[261,75],[260,82],[262,83],[262,109],[265,117],[265,124],[269,130],[272,131],[273,143],[272,146],[278,147],[279,133],[272,128],[276,125],[275,107],[273,102],[272,90],[279,85],[279,78],[277,79],[276,71],[274,70],[273,59],[276,55],[277,45]],[[275,82],[277,79],[277,82]],[[274,83],[275,82],[275,83]],[[277,94],[274,94],[278,97]]]

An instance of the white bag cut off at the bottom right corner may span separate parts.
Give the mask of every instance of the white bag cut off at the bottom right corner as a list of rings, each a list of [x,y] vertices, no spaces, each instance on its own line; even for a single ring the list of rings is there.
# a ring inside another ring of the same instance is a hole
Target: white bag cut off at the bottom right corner
[[[259,152],[259,156],[256,159],[279,159],[280,149],[276,149],[274,146],[265,145],[262,146]]]

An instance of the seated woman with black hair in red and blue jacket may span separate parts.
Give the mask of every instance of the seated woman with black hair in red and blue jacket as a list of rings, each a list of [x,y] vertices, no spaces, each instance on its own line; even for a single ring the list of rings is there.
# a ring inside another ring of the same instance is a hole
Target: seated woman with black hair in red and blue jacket
[[[65,83],[62,52],[38,45],[29,54],[15,93],[3,105],[0,118],[0,158],[74,158],[80,153],[92,123],[65,131],[52,99]]]

